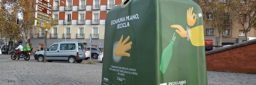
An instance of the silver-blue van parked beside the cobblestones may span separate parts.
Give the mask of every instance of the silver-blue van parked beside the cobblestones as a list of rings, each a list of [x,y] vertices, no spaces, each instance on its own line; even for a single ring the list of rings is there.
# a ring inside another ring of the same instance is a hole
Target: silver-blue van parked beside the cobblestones
[[[44,61],[44,50],[36,52],[34,58],[38,62]],[[48,62],[69,61],[69,63],[81,63],[83,59],[85,59],[85,48],[83,42],[80,41],[55,42],[46,51]]]

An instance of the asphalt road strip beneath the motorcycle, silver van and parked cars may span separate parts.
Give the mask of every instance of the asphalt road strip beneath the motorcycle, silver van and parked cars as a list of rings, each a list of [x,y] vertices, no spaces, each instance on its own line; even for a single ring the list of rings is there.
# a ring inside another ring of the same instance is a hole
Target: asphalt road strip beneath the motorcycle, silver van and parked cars
[[[0,61],[7,61],[7,60],[12,60],[12,59],[11,59],[11,55],[5,55],[5,54],[0,55]],[[16,60],[17,60],[17,59],[16,59]],[[24,59],[21,58],[20,60],[24,60]],[[30,56],[29,61],[36,61],[36,62],[37,62],[37,60],[34,58],[34,55]],[[90,59],[83,60],[82,63],[88,63],[89,61],[90,61]],[[92,62],[95,62],[95,63],[101,63],[101,64],[102,64],[102,61],[98,61],[98,59],[93,59],[93,58],[91,58],[91,61],[92,61]],[[47,62],[47,61],[46,61],[46,62]],[[68,61],[53,61],[53,62],[68,63]]]

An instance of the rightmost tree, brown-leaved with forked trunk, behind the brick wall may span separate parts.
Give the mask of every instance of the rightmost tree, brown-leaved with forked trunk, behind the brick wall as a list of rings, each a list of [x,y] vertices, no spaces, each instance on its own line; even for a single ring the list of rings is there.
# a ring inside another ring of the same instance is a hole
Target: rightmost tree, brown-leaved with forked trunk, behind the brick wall
[[[234,0],[234,21],[243,27],[248,41],[248,32],[256,29],[256,0]]]

